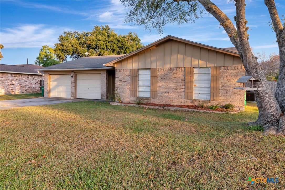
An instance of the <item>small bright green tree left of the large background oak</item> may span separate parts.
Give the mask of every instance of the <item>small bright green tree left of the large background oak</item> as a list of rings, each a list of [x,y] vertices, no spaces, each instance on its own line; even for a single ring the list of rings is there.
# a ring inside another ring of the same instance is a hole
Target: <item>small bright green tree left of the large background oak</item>
[[[53,48],[49,46],[42,46],[34,63],[36,65],[47,67],[60,62],[56,59]]]

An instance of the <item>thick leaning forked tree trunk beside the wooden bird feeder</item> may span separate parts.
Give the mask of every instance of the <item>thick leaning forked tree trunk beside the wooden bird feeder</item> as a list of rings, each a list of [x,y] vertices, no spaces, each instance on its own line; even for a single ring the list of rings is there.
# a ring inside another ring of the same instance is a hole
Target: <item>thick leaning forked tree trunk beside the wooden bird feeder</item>
[[[247,35],[247,21],[245,20],[245,1],[236,1],[237,30],[235,30],[229,18],[211,1],[199,0],[199,2],[223,26],[231,42],[237,48],[247,74],[253,75],[260,81],[255,82],[254,87],[264,88],[264,90],[255,90],[259,110],[256,124],[263,126],[265,134],[285,134],[284,113],[282,113],[276,98],[268,86],[264,73],[251,52]]]

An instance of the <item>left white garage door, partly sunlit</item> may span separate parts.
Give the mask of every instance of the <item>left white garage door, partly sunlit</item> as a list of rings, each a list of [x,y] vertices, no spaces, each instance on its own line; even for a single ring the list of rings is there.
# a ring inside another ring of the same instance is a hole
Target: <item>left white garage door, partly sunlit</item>
[[[50,97],[71,98],[71,78],[69,74],[50,75]]]

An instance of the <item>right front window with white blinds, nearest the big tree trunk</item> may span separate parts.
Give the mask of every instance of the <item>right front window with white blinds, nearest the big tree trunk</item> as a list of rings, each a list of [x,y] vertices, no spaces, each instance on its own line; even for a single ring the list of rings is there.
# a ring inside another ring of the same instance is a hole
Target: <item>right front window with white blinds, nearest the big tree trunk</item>
[[[211,98],[211,67],[194,68],[194,99],[210,100]]]

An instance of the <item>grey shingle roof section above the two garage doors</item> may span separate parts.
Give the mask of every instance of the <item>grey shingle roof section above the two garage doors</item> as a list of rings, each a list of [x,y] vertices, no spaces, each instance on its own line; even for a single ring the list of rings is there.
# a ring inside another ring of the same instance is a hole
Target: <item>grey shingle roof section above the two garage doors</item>
[[[105,67],[104,64],[124,55],[125,54],[82,57],[71,61],[63,62],[60,64],[48,66],[38,70],[47,71],[47,70],[73,70],[73,69],[87,70],[87,69],[101,69],[101,68],[108,69],[111,67]]]

